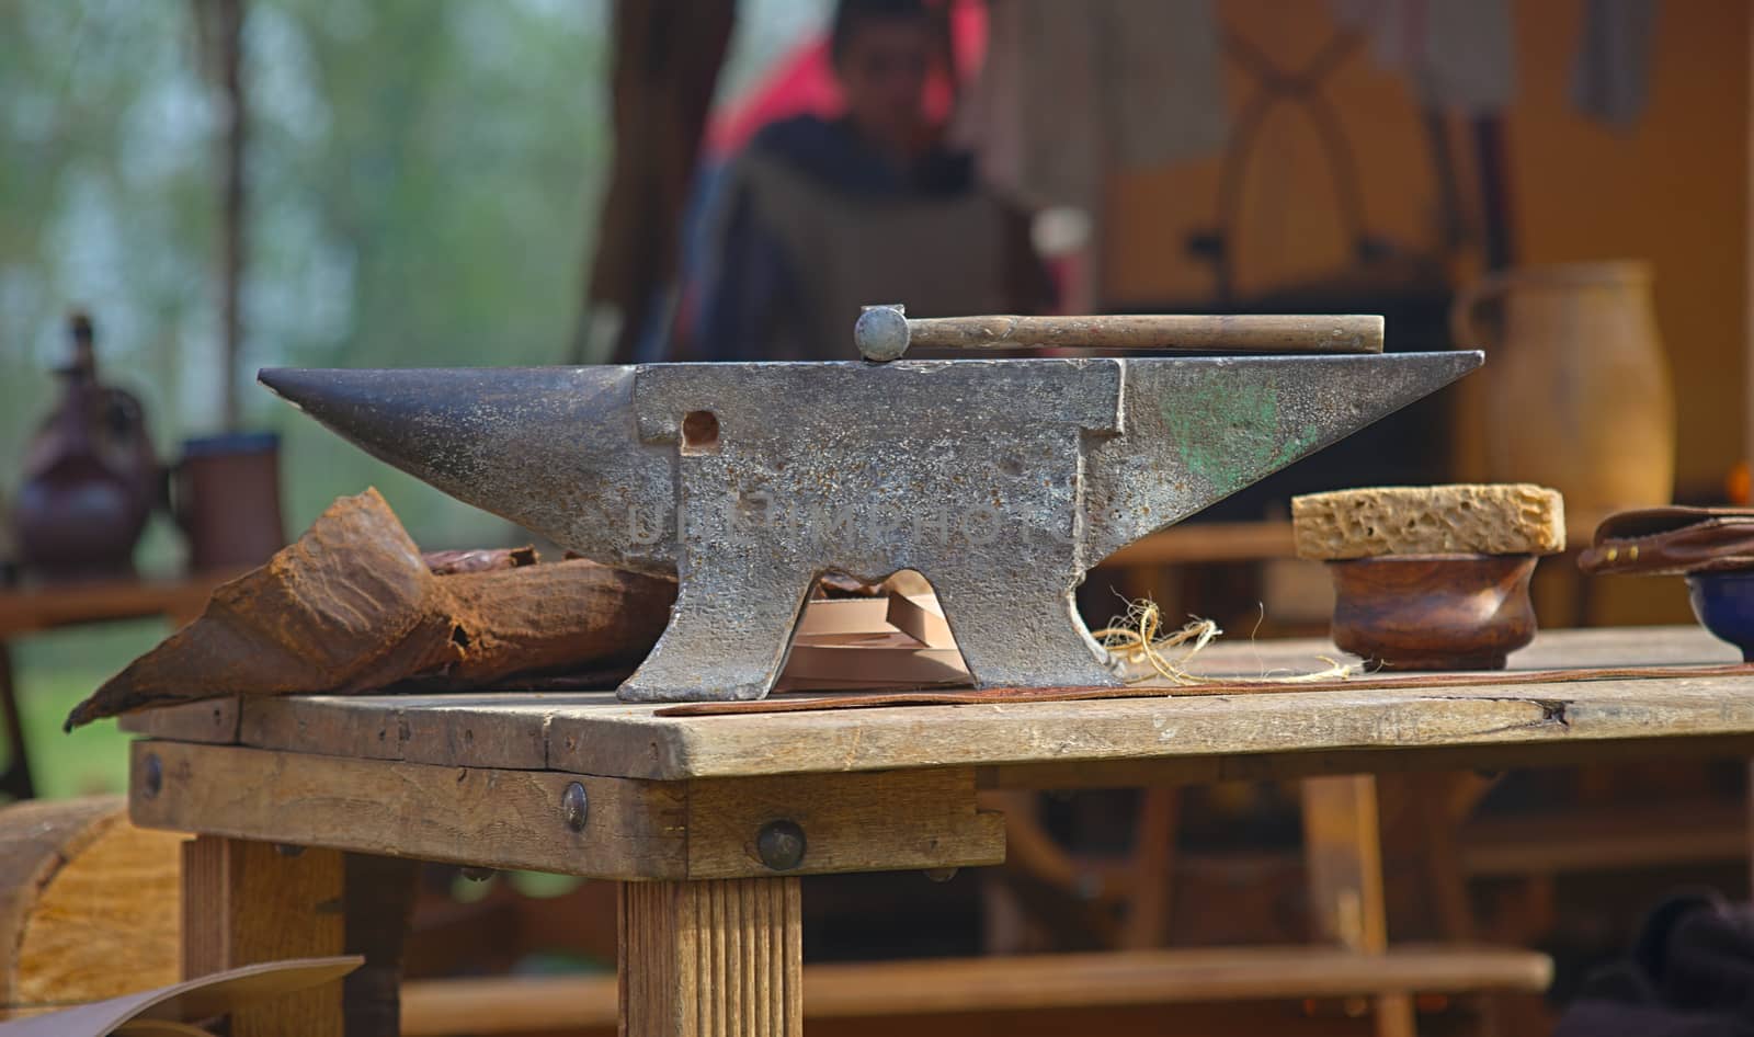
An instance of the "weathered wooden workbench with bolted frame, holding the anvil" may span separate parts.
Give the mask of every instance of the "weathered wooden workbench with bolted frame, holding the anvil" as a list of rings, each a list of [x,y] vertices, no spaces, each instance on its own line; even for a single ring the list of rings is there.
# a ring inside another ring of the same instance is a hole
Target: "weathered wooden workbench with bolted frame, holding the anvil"
[[[1200,663],[1259,676],[1319,667],[1317,654],[1335,649],[1244,640]],[[1598,630],[1544,635],[1512,665],[1733,660],[1698,630]],[[796,1035],[796,876],[996,863],[1002,819],[977,805],[979,790],[1754,751],[1754,679],[1740,676],[717,718],[656,709],[507,691],[217,700],[132,719],[151,735],[133,747],[135,821],[203,835],[184,862],[186,969],[342,942],[370,958],[360,939],[395,918],[382,891],[407,877],[396,858],[535,869],[623,881],[626,1033],[737,1032],[723,1023],[740,1019],[742,1032]],[[775,823],[802,830],[796,863],[772,853]],[[379,951],[386,969],[349,988],[351,1019],[393,1019],[393,955]],[[239,1023],[340,1033],[340,1018],[339,1002],[314,995]]]

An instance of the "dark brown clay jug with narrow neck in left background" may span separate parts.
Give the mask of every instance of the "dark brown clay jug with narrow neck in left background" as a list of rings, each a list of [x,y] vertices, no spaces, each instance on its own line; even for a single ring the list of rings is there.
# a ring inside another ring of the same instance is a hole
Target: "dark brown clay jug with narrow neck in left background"
[[[12,502],[23,567],[49,579],[133,570],[133,546],[158,497],[158,461],[140,402],[98,384],[91,321],[70,321],[61,402],[25,451]]]

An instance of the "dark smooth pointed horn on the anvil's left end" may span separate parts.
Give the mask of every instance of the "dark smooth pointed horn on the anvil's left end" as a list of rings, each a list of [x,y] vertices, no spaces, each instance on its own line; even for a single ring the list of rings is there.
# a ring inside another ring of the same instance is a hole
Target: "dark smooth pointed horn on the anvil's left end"
[[[674,449],[635,435],[631,367],[265,368],[368,454],[607,565],[675,572]]]

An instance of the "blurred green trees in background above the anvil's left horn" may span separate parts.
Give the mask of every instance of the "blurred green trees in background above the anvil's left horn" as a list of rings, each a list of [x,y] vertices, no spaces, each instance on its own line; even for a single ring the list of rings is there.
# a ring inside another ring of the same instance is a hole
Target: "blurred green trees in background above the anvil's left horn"
[[[744,0],[721,95],[828,0]],[[519,533],[249,384],[263,365],[563,363],[609,174],[610,0],[247,0],[242,421],[282,433],[288,532],[377,484],[430,546]],[[160,453],[219,432],[223,98],[189,4],[0,4],[0,493],[54,388],[61,318]],[[175,563],[154,523],[147,567]]]

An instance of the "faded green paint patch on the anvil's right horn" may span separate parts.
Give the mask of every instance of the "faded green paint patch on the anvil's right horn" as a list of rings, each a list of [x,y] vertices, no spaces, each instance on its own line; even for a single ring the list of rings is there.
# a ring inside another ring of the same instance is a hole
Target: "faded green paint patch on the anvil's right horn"
[[[1300,423],[1280,421],[1277,377],[1263,379],[1258,368],[1207,377],[1201,393],[1166,397],[1158,407],[1182,463],[1212,490],[1240,490],[1316,444]]]

